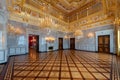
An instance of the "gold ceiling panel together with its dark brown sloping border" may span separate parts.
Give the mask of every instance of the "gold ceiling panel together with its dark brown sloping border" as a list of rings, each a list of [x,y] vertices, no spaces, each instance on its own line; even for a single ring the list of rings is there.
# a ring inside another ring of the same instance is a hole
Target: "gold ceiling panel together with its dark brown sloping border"
[[[94,5],[96,0],[26,0],[25,5],[31,5],[37,9],[44,10],[49,5],[49,12],[52,16],[65,22],[69,21],[69,16],[76,15],[83,8]]]

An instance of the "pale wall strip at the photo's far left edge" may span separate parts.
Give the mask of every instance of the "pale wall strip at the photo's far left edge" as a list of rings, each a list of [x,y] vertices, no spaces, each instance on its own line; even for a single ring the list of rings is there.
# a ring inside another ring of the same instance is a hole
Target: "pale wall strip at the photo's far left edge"
[[[1,32],[1,42],[0,42],[0,63],[7,62],[8,51],[7,51],[7,17],[8,14],[5,10],[5,1],[0,0],[0,32]]]

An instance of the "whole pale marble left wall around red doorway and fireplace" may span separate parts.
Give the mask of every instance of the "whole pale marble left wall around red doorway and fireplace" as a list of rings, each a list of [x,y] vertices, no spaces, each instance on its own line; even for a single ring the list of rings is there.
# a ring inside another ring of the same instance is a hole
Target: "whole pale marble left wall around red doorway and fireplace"
[[[14,33],[8,32],[8,50],[9,50],[9,55],[20,55],[20,54],[26,54],[29,53],[29,35],[39,35],[39,51],[40,52],[45,52],[49,51],[49,46],[53,46],[53,50],[58,50],[58,38],[59,37],[64,37],[64,34],[61,32],[55,32],[51,31],[50,34],[48,34],[48,29],[40,29],[37,26],[33,25],[25,25],[23,23],[19,23],[16,21],[11,21],[9,20],[9,24],[14,26],[15,28],[20,28],[24,33],[22,35],[16,35]],[[52,35],[55,37],[55,42],[54,43],[47,43],[45,41],[45,37]],[[18,38],[20,36],[25,37],[25,44],[24,45],[18,45]],[[63,39],[63,48],[68,49],[69,48],[69,40]]]

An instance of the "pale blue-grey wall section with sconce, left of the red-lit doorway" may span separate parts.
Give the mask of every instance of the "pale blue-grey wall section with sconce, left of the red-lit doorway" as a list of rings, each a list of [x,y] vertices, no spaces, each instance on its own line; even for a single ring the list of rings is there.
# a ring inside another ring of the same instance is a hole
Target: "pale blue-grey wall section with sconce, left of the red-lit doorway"
[[[14,31],[7,31],[7,48],[8,55],[26,54],[26,26],[22,23],[15,21],[8,21],[7,27],[14,26],[15,29],[19,28],[22,34],[16,34]],[[21,37],[23,38],[21,40]]]

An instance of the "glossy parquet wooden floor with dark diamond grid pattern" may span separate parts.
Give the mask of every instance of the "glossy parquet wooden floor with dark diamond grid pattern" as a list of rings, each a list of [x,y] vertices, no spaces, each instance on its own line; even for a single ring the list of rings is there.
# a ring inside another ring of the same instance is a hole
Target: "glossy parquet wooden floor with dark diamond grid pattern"
[[[11,57],[9,63],[5,80],[110,80],[112,55],[75,50],[31,51]]]

